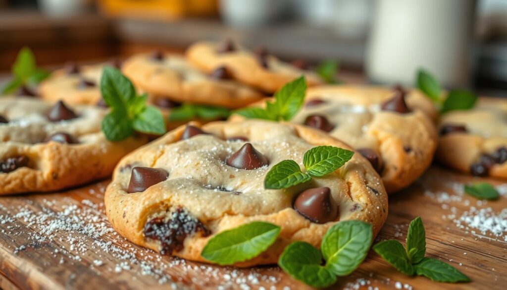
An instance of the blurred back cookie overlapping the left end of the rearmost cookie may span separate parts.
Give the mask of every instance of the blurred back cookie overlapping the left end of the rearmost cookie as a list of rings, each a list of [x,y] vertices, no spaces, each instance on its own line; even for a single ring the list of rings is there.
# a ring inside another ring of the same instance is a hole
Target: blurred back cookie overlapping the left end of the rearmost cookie
[[[257,90],[232,80],[226,68],[207,75],[184,57],[159,51],[130,57],[122,71],[141,91],[180,103],[240,108],[263,98]]]

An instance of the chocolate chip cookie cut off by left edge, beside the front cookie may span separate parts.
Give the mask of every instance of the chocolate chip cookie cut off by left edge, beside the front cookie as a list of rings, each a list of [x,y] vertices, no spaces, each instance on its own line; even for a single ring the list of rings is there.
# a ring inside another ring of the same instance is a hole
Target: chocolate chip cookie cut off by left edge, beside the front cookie
[[[108,142],[107,112],[92,106],[0,99],[0,195],[53,191],[107,177],[121,157],[146,142]]]

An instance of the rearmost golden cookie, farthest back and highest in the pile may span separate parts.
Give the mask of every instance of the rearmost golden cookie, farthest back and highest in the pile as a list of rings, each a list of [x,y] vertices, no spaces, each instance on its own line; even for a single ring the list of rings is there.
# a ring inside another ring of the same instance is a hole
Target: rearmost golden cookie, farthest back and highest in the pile
[[[231,42],[198,42],[187,50],[188,59],[205,72],[226,67],[238,81],[274,93],[284,84],[305,75],[308,86],[322,84],[320,77],[283,62],[265,50],[256,53]]]

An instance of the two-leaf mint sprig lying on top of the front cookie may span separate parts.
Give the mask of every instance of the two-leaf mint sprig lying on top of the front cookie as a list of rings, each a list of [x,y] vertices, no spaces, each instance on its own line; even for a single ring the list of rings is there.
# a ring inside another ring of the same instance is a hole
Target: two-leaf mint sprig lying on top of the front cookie
[[[301,171],[294,160],[283,160],[268,171],[264,178],[264,187],[266,189],[288,188],[310,181],[312,177],[330,174],[347,163],[352,155],[354,151],[338,147],[314,147],[306,151],[303,156],[306,173]]]

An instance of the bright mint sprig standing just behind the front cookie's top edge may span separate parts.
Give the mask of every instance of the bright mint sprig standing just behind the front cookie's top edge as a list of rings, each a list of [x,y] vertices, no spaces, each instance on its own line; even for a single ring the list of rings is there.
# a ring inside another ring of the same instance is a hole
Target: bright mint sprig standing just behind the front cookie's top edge
[[[301,76],[278,90],[273,97],[274,102],[266,101],[266,108],[249,107],[233,113],[248,119],[289,121],[303,106],[305,93],[306,80],[304,76]]]

